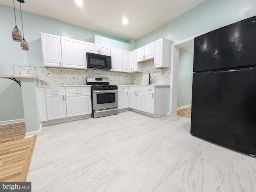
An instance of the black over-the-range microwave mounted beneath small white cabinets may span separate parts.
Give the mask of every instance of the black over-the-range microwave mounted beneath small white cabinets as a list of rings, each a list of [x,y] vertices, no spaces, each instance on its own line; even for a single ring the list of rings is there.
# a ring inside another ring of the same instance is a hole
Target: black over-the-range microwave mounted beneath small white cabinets
[[[86,53],[87,69],[111,69],[111,57],[106,55],[99,55],[95,53]]]

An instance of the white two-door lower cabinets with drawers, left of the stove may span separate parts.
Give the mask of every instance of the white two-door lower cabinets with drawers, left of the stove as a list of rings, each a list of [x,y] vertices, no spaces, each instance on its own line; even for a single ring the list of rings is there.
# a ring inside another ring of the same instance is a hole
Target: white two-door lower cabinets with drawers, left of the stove
[[[45,94],[47,120],[92,113],[90,87],[47,87]]]

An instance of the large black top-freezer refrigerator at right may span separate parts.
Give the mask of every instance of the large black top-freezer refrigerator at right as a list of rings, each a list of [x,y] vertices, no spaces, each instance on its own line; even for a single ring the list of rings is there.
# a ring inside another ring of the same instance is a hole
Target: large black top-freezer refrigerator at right
[[[256,155],[256,16],[194,39],[191,131]]]

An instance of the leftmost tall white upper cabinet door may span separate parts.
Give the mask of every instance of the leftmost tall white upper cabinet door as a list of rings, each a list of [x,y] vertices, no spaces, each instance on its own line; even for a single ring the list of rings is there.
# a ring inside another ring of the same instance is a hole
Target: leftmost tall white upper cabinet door
[[[41,33],[42,52],[45,67],[61,67],[60,36]]]

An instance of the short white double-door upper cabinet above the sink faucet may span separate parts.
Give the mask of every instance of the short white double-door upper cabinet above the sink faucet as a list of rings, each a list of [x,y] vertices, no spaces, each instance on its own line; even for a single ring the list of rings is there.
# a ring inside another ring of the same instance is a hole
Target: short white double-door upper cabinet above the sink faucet
[[[137,49],[137,62],[146,62],[154,58],[154,42]]]

